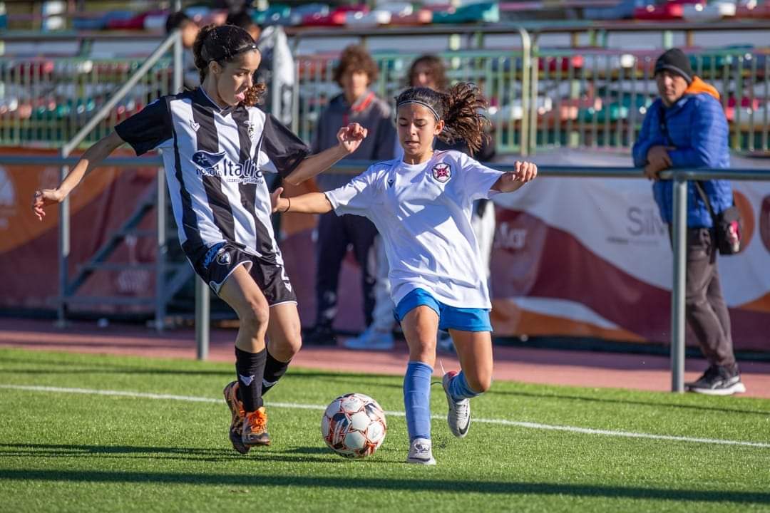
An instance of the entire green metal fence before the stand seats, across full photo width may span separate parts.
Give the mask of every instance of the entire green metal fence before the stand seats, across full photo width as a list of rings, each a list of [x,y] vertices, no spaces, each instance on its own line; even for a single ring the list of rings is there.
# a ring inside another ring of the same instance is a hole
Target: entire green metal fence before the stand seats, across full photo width
[[[500,35],[503,29],[490,29],[487,35]],[[630,29],[624,25],[617,31]],[[444,34],[449,29],[441,30],[423,28],[420,35]],[[506,30],[506,34],[513,36],[510,47],[458,48],[439,54],[447,63],[451,80],[474,81],[484,89],[490,101],[488,115],[498,152],[531,153],[559,147],[630,148],[644,113],[657,95],[653,66],[660,49],[530,49],[526,31],[514,27]],[[350,32],[363,39],[388,35],[393,30],[369,35],[350,30],[336,32],[326,31],[318,36],[333,38]],[[483,44],[483,38],[478,37],[481,32],[465,32],[473,41],[478,40],[477,46]],[[307,39],[310,35],[313,34],[303,32],[301,37]],[[393,32],[392,37],[396,41],[394,46],[410,48],[407,32]],[[721,93],[730,123],[731,148],[740,152],[770,152],[770,48],[688,52],[698,75]],[[374,52],[380,67],[380,78],[373,85],[375,92],[392,100],[406,85],[407,70],[420,53],[417,48]],[[313,139],[321,110],[340,92],[332,80],[337,56],[336,52],[296,55],[293,129],[307,142]],[[142,62],[142,58],[0,57],[0,145],[58,148],[75,135]],[[157,96],[172,92],[170,62],[169,58],[157,62],[84,144],[105,135]]]

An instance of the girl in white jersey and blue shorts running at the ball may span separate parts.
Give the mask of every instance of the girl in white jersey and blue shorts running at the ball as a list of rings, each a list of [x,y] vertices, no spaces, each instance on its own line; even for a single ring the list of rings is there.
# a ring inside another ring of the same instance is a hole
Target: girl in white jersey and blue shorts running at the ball
[[[434,152],[434,138],[463,139],[475,151],[484,136],[486,106],[474,85],[447,93],[410,88],[397,102],[403,159],[380,162],[326,193],[281,198],[273,212],[356,214],[370,218],[383,238],[394,314],[409,345],[403,381],[410,450],[407,462],[434,465],[430,443],[430,376],[437,328],[450,332],[462,371],[444,375],[447,421],[462,438],[470,427],[469,399],[492,382],[491,308],[487,273],[470,225],[474,200],[513,192],[537,175],[516,162],[515,172],[480,165],[464,153]]]

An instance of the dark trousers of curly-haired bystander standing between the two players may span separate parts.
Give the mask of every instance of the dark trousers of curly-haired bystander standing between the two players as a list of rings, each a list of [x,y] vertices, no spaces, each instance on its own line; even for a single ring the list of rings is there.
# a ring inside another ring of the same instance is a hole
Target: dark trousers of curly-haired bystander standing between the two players
[[[348,245],[353,245],[353,255],[361,266],[363,317],[367,326],[372,324],[377,281],[373,254],[376,236],[377,228],[360,215],[338,216],[326,212],[320,216],[316,242],[316,325],[331,325],[336,317],[337,285]]]

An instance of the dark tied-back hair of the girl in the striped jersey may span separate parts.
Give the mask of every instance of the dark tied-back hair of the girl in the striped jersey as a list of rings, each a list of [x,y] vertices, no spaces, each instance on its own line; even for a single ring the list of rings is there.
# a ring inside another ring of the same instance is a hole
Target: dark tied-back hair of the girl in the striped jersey
[[[200,83],[206,79],[209,73],[209,62],[216,61],[224,66],[226,62],[233,62],[243,52],[256,50],[249,32],[235,25],[206,25],[198,32],[195,43],[192,45],[192,55],[195,56],[195,66],[198,68]],[[246,91],[243,105],[249,107],[261,103],[262,96],[267,91],[264,84],[254,84]]]

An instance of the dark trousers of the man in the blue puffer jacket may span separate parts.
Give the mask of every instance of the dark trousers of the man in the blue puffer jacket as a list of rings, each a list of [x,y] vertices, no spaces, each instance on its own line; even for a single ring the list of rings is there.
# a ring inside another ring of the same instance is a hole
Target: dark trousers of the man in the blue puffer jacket
[[[709,228],[687,229],[687,285],[685,315],[703,355],[710,365],[732,368],[730,314],[722,297],[714,232]]]

